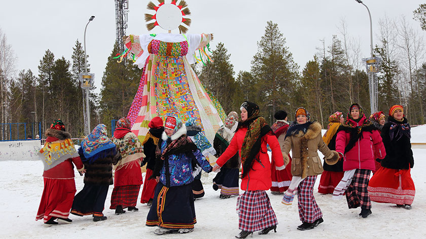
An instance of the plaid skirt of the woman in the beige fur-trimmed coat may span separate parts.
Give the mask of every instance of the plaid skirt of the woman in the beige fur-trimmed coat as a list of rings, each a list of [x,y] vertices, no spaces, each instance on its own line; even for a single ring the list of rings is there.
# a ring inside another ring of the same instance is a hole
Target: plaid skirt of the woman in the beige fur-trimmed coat
[[[315,197],[313,197],[313,185],[316,177],[316,175],[306,177],[297,188],[297,205],[299,207],[299,218],[302,222],[312,223],[323,217],[323,213],[316,204]]]

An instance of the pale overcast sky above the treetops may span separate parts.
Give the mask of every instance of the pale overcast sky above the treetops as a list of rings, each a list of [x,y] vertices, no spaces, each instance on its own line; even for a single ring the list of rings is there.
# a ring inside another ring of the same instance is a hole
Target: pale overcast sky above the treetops
[[[146,10],[148,2],[129,0],[127,34],[166,32],[159,27],[147,31],[144,14],[151,12]],[[349,37],[360,39],[363,57],[370,55],[368,12],[354,0],[187,0],[187,3],[192,12],[188,33],[214,33],[211,49],[223,42],[231,54],[236,73],[250,70],[257,42],[269,20],[278,24],[300,70],[318,52],[316,48],[322,46],[321,39],[325,39],[326,46],[330,45],[332,35],[339,34],[337,27],[343,18]],[[389,18],[405,16],[414,29],[425,35],[419,23],[412,19],[413,10],[424,1],[365,0],[364,3],[373,19],[373,44],[378,43],[375,37],[378,20],[385,15]],[[99,92],[107,58],[116,40],[113,0],[14,0],[2,1],[0,8],[0,28],[18,57],[17,71],[31,69],[35,75],[47,49],[55,54],[55,59],[64,56],[71,60],[76,40],[83,43],[84,27],[94,15],[95,19],[87,28],[86,48]]]

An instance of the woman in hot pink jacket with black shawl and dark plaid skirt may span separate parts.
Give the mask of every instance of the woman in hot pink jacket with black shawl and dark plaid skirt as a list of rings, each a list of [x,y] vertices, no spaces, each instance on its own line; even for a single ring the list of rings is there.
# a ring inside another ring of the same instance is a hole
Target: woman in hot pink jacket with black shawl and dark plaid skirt
[[[343,157],[342,181],[333,192],[333,197],[346,195],[349,208],[361,207],[362,218],[371,214],[371,202],[367,186],[376,158],[384,158],[386,151],[377,128],[369,121],[362,107],[354,103],[349,108],[345,122],[339,127],[336,151]]]

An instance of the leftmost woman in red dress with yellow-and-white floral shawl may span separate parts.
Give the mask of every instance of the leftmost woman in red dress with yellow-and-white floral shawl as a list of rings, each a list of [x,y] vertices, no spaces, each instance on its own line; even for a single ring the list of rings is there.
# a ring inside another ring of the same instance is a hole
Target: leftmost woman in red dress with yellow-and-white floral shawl
[[[76,193],[74,167],[84,170],[71,135],[62,130],[48,129],[44,147],[38,152],[44,164],[44,189],[35,220],[47,222],[52,218],[68,218]]]

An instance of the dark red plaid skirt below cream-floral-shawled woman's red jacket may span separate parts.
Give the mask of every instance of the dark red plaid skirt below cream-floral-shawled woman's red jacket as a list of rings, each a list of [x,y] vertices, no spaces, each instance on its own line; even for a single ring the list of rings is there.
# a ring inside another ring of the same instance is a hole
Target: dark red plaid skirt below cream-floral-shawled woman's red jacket
[[[136,207],[139,189],[140,185],[114,187],[113,193],[111,194],[110,209],[116,209],[117,206],[123,208]]]

